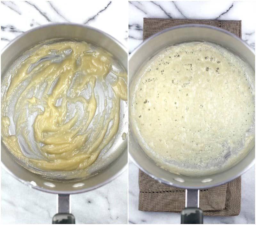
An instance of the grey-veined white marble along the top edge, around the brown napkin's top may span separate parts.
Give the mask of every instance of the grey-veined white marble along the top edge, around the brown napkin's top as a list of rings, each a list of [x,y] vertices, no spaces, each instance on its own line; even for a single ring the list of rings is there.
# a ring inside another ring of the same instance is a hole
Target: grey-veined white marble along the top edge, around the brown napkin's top
[[[255,2],[130,1],[129,53],[143,37],[143,18],[242,20],[242,39],[255,49]]]

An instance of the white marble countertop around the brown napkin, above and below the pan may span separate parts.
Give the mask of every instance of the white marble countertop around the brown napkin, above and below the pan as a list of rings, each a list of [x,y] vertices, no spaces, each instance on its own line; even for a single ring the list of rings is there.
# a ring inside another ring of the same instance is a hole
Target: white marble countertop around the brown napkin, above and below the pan
[[[242,39],[255,48],[255,2],[129,2],[129,53],[141,42],[143,18],[242,20]],[[242,176],[238,216],[204,217],[204,223],[255,224],[255,168]],[[138,168],[129,162],[129,223],[180,223],[180,214],[138,210]]]

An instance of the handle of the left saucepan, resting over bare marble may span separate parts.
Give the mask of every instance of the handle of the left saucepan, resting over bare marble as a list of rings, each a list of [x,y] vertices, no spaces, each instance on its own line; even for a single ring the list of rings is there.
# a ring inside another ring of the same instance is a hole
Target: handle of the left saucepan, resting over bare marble
[[[69,194],[57,194],[57,214],[52,217],[52,224],[75,224],[75,216],[71,214]]]

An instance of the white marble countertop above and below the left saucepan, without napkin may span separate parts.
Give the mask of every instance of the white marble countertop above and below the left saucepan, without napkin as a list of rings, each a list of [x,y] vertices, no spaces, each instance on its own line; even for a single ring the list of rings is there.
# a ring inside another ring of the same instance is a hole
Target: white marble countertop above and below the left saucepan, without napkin
[[[51,22],[73,22],[97,27],[127,46],[128,10],[119,1],[1,2],[1,49],[19,34]],[[128,2],[125,3],[128,7]],[[118,20],[116,19],[118,18]],[[113,26],[114,25],[114,26]],[[125,171],[94,191],[71,196],[76,223],[127,223]],[[51,223],[56,195],[31,189],[2,169],[1,224]]]

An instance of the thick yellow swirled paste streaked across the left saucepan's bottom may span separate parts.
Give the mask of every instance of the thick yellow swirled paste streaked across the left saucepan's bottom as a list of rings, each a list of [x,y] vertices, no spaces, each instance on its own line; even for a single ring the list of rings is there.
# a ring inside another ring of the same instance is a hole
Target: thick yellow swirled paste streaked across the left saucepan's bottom
[[[2,141],[21,163],[82,170],[111,147],[127,74],[108,52],[83,41],[42,44],[10,73],[2,84]]]

